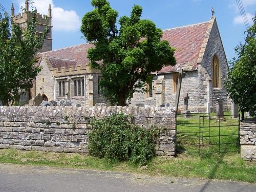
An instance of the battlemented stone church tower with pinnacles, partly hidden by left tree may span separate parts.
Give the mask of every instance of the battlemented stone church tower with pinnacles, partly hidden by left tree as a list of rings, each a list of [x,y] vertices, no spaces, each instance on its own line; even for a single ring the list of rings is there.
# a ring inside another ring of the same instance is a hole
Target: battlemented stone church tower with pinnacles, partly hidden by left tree
[[[13,22],[19,24],[20,27],[26,28],[28,25],[28,21],[32,18],[32,12],[29,11],[29,0],[25,2],[25,11],[23,13],[18,13],[15,15],[14,7],[12,4],[11,7],[11,16]],[[41,14],[36,13],[37,26],[36,26],[36,34],[41,35],[46,26],[50,26],[50,31],[45,38],[44,45],[39,50],[40,53],[51,51],[52,50],[52,9],[51,5],[49,5],[48,9],[48,20],[43,18]]]

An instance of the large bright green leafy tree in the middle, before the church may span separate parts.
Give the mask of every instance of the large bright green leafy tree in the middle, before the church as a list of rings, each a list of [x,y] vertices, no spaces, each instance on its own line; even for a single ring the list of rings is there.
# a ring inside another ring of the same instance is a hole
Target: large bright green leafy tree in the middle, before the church
[[[126,105],[135,91],[145,89],[152,72],[175,65],[174,49],[161,40],[162,30],[141,19],[142,8],[135,5],[131,16],[119,18],[106,0],[92,0],[95,9],[82,18],[81,32],[95,45],[88,51],[91,67],[102,73],[101,93],[113,104]]]

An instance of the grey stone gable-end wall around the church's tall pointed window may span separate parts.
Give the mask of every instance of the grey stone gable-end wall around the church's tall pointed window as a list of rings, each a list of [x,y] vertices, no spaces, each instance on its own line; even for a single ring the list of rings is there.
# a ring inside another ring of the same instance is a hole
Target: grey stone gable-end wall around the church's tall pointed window
[[[226,55],[225,55],[225,51],[223,48],[223,44],[222,44],[222,40],[221,40],[221,36],[219,33],[216,20],[214,20],[214,23],[212,24],[211,32],[209,33],[208,43],[207,43],[207,46],[204,52],[204,57],[202,60],[202,67],[206,69],[209,77],[211,78],[212,78],[212,60],[215,55],[217,55],[219,59],[219,66],[220,66],[220,73],[221,73],[220,74],[221,88],[212,88],[210,90],[210,92],[212,92],[210,105],[214,107],[214,110],[216,110],[216,106],[217,106],[216,99],[223,98],[224,108],[227,110],[227,109],[230,109],[231,103],[228,102],[227,92],[224,89],[224,82],[226,81],[226,76],[229,69],[228,69],[228,63],[226,60]]]

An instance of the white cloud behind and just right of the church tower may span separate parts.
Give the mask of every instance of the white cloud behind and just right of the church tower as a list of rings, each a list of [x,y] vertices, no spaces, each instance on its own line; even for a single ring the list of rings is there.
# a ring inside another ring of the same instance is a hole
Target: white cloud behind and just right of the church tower
[[[18,0],[19,7],[25,7],[25,0]],[[61,7],[55,7],[53,0],[34,0],[34,7],[42,15],[48,15],[49,4],[52,8],[52,30],[55,31],[77,31],[80,28],[80,17],[73,10],[64,10]]]

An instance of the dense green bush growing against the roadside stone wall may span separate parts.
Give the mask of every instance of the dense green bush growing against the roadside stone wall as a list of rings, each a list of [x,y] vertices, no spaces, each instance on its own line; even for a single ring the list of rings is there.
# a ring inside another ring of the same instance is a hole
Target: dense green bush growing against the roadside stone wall
[[[89,152],[92,156],[110,160],[145,164],[155,153],[154,138],[157,129],[145,130],[125,115],[112,115],[90,121]]]

